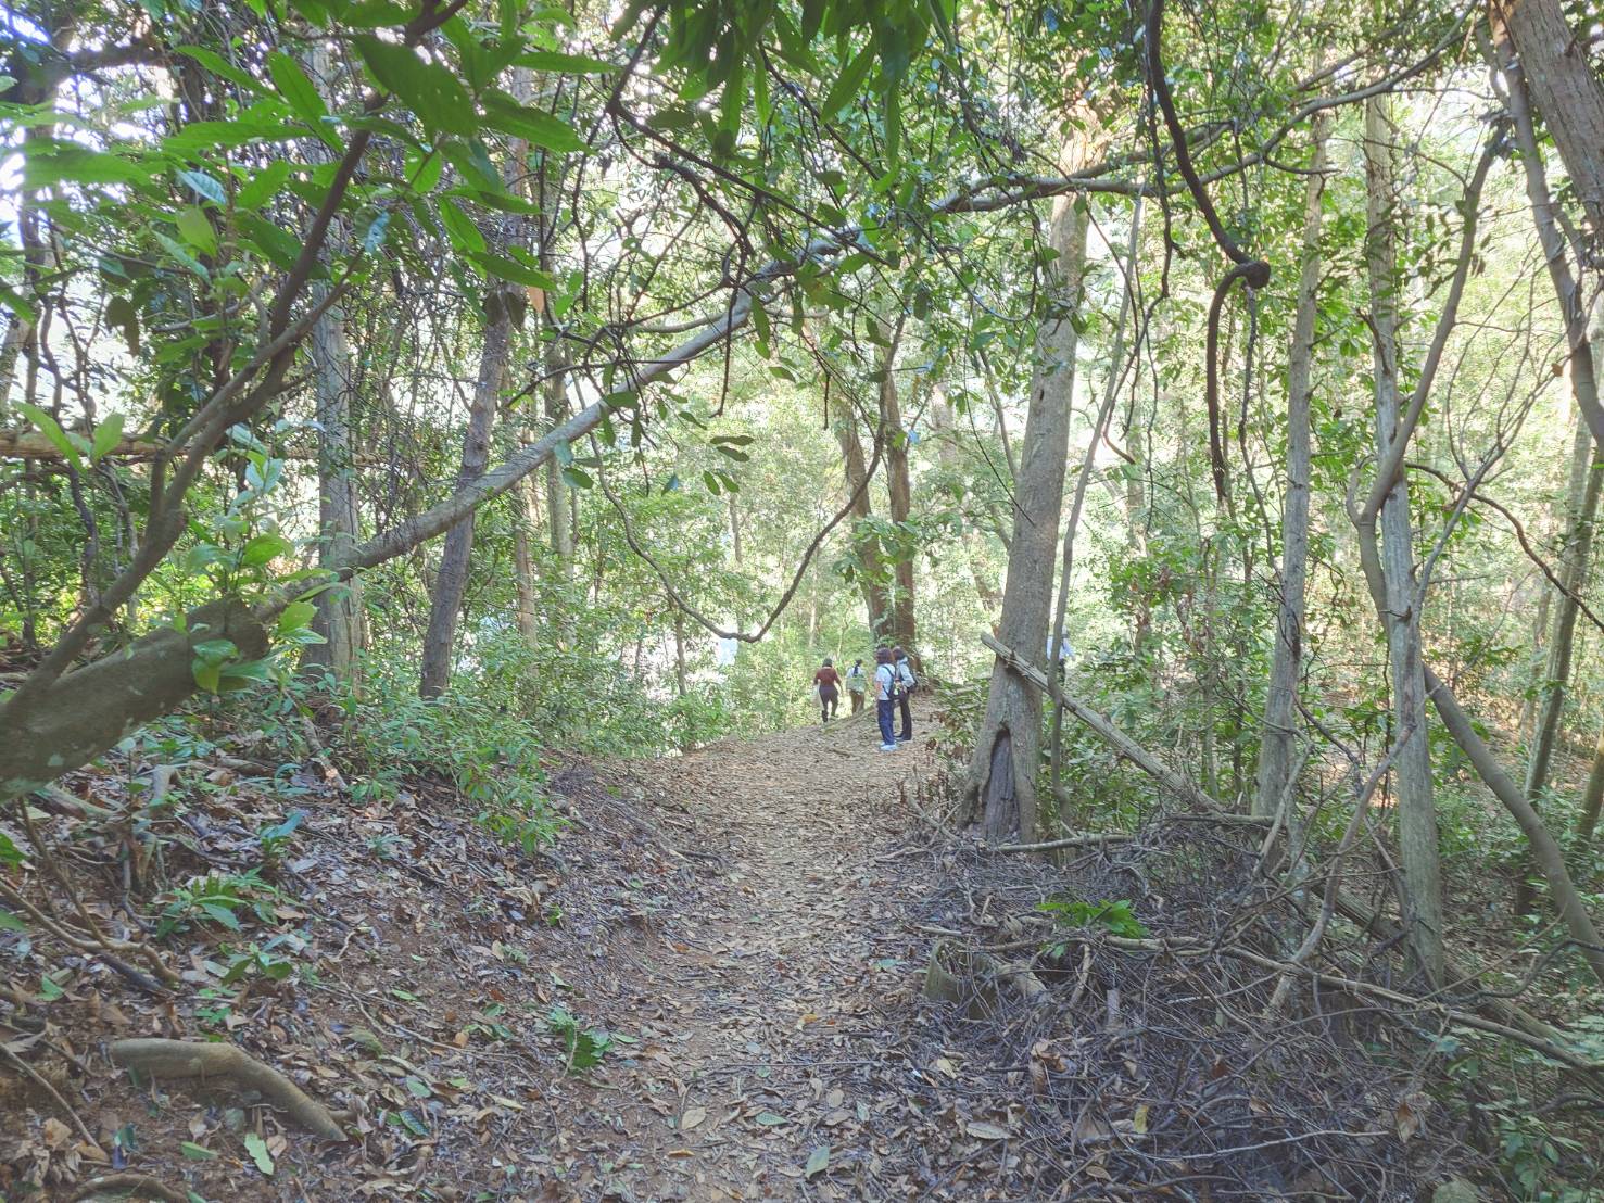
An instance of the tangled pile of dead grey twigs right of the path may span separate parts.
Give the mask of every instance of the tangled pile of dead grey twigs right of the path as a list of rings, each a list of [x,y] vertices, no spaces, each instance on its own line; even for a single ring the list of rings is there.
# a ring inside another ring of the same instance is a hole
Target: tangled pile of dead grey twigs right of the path
[[[1293,964],[1310,903],[1259,874],[1261,839],[1174,816],[1057,866],[948,853],[922,930],[967,993],[932,1006],[926,1052],[988,1067],[1009,1123],[978,1134],[1012,1144],[1027,1197],[1415,1200],[1476,1160],[1432,1099],[1461,1012],[1341,921]],[[1099,916],[1115,901],[1136,924]]]

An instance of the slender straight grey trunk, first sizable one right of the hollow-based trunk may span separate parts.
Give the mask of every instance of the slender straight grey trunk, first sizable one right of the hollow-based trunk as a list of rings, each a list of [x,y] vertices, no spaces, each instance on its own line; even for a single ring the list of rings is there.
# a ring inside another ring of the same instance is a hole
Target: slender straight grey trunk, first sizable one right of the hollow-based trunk
[[[1325,138],[1331,122],[1314,119],[1314,157],[1304,194],[1302,274],[1293,345],[1286,354],[1286,494],[1282,502],[1280,602],[1275,608],[1275,653],[1264,699],[1253,813],[1275,815],[1291,805],[1298,730],[1298,672],[1302,666],[1304,584],[1309,576],[1309,393],[1314,367],[1315,292],[1320,287],[1320,204],[1325,194]]]

